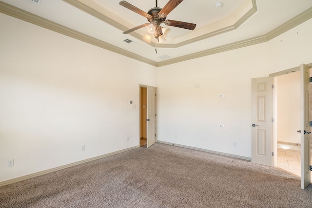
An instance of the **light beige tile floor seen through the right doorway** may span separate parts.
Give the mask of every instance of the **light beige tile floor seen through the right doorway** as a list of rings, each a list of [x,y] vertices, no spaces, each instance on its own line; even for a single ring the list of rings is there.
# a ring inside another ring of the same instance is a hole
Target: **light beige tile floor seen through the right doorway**
[[[277,143],[277,167],[300,177],[300,148],[299,145]]]

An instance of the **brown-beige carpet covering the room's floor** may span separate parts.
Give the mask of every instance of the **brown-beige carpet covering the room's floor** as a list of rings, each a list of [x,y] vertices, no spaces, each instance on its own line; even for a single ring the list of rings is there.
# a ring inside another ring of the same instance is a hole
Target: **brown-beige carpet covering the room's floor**
[[[277,168],[155,143],[0,187],[0,208],[311,208]]]

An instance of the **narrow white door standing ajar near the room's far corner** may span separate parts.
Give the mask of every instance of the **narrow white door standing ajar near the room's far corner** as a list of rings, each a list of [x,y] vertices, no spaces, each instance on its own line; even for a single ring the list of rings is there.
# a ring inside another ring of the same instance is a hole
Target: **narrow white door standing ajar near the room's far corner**
[[[156,88],[147,87],[147,139],[146,147],[156,142]]]

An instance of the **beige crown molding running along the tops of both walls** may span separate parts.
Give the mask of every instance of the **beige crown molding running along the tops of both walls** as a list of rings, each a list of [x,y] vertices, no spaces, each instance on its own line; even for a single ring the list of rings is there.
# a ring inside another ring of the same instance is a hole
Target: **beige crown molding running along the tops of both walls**
[[[78,2],[77,0],[65,0],[65,1]],[[253,0],[253,3],[254,2],[255,2],[255,0]],[[90,7],[87,7],[87,9],[89,9],[89,8]],[[191,54],[180,56],[177,58],[173,58],[173,59],[170,59],[167,61],[156,62],[156,61],[153,61],[151,59],[145,58],[143,56],[137,55],[133,52],[128,52],[126,50],[118,48],[112,44],[106,43],[106,42],[101,41],[97,38],[91,37],[89,35],[85,35],[83,33],[75,31],[75,30],[72,30],[72,29],[67,28],[65,26],[62,26],[56,22],[47,20],[45,18],[39,17],[39,16],[34,15],[32,13],[29,13],[29,12],[26,12],[22,9],[19,9],[17,7],[14,7],[14,6],[7,4],[7,3],[4,3],[2,1],[0,1],[0,12],[3,14],[9,15],[11,17],[16,17],[16,18],[19,18],[21,20],[27,21],[29,23],[38,25],[40,27],[52,30],[52,31],[60,33],[62,35],[67,35],[69,37],[73,37],[75,39],[84,41],[86,43],[89,43],[89,44],[92,44],[95,46],[98,46],[100,48],[103,48],[103,49],[106,49],[106,50],[109,50],[112,52],[116,52],[120,55],[127,56],[129,58],[135,59],[137,61],[149,64],[149,65],[152,65],[155,67],[162,67],[162,66],[175,64],[178,62],[191,60],[191,59],[195,59],[195,58],[199,58],[199,57],[203,57],[203,56],[207,56],[207,55],[211,55],[211,54],[215,54],[215,53],[226,52],[229,50],[234,50],[234,49],[238,49],[238,48],[242,48],[242,47],[246,47],[246,46],[251,46],[254,44],[258,44],[258,43],[263,43],[263,42],[266,42],[266,41],[273,39],[274,37],[276,37],[278,35],[285,33],[286,31],[292,29],[293,27],[295,27],[295,26],[297,26],[297,25],[299,25],[299,24],[301,24],[301,23],[312,18],[312,7],[310,7],[309,9],[307,9],[306,11],[297,15],[296,17],[293,17],[289,21],[287,21],[284,24],[280,25],[279,27],[273,29],[271,32],[267,33],[266,35],[260,35],[260,36],[254,37],[254,38],[230,43],[230,44],[223,45],[223,46],[218,46],[218,47],[208,49],[208,50],[204,50],[201,52],[191,53]],[[242,22],[243,22],[243,20],[242,20]],[[112,21],[111,24],[116,24],[117,27],[121,27],[120,25],[118,26],[118,23],[115,21]]]

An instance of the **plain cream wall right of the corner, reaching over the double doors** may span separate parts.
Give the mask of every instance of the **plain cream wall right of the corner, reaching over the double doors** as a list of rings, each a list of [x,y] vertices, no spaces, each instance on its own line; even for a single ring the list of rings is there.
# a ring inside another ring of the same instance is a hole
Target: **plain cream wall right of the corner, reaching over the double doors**
[[[158,68],[158,141],[250,158],[251,79],[312,63],[311,37],[312,19],[265,43]]]

